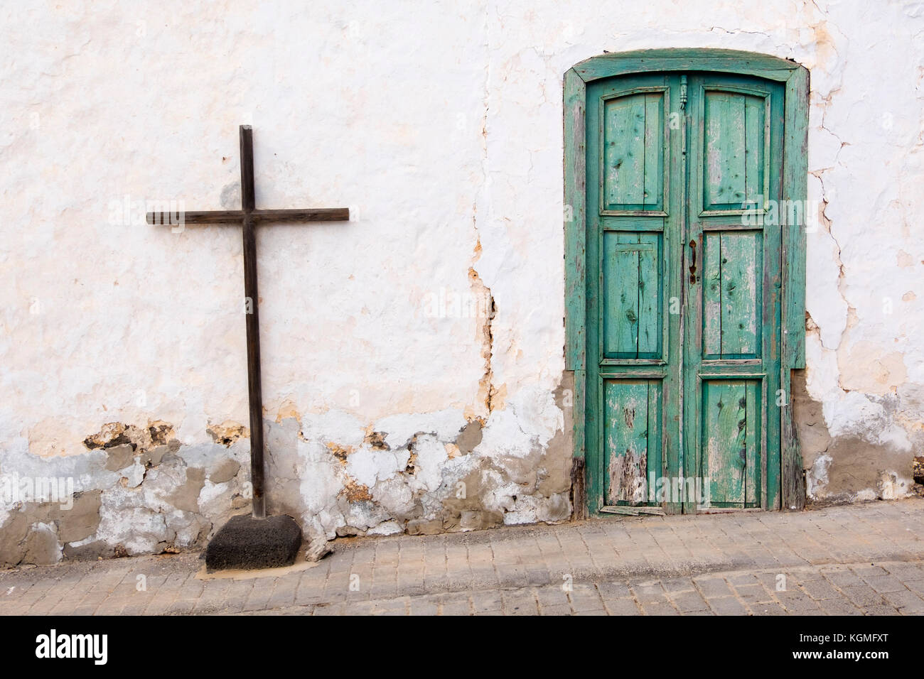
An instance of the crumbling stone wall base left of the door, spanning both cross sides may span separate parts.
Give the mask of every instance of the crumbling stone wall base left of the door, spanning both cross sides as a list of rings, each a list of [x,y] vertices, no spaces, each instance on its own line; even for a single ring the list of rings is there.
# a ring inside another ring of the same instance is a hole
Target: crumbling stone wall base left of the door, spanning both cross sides
[[[534,392],[484,423],[456,410],[366,426],[333,412],[267,420],[269,510],[327,539],[565,521],[567,394],[556,394],[557,404]],[[201,547],[249,508],[249,438],[233,423],[210,425],[213,443],[183,445],[173,431],[109,423],[86,437],[83,455],[7,456],[0,474],[67,478],[74,493],[4,506],[0,564]]]

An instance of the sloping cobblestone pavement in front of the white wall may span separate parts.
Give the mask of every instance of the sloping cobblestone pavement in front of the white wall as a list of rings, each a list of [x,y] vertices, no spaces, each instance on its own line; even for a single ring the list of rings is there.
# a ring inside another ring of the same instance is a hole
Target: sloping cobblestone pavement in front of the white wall
[[[240,579],[202,564],[7,570],[0,614],[920,614],[924,499],[336,540],[318,564]]]

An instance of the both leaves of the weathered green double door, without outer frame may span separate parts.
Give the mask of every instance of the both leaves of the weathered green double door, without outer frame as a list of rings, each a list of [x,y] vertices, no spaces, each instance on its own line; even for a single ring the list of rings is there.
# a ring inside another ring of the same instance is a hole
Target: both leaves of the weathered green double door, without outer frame
[[[723,74],[588,85],[591,510],[779,506],[783,104]]]

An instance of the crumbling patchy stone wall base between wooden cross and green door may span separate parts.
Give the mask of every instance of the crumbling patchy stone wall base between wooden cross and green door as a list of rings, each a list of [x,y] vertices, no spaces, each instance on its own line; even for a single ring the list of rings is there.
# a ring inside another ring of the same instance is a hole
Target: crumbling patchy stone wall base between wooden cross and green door
[[[485,425],[452,410],[371,427],[355,421],[351,435],[343,414],[268,423],[270,509],[327,538],[566,520],[564,420],[551,396],[534,398],[495,411]],[[517,407],[528,430],[509,412]]]

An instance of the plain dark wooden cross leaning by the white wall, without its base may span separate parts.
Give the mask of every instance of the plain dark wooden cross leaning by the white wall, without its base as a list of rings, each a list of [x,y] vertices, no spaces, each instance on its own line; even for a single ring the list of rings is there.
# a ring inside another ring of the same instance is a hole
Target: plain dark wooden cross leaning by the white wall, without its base
[[[184,212],[182,224],[242,224],[244,227],[244,296],[247,308],[247,386],[250,406],[250,482],[253,517],[266,516],[263,494],[263,397],[260,383],[260,313],[257,297],[257,241],[254,226],[260,222],[345,222],[348,208],[257,210],[253,197],[253,129],[240,126],[240,210]],[[176,224],[169,212],[148,212],[148,224]]]

